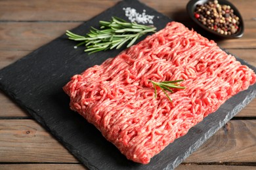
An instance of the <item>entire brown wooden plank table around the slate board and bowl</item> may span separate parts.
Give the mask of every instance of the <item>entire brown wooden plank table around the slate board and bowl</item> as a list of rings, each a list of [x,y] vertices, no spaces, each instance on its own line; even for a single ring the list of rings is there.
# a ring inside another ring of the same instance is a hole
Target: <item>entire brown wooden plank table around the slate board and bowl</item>
[[[141,0],[188,27],[188,0]],[[256,1],[230,0],[245,23],[241,39],[217,40],[222,48],[256,66]],[[0,69],[118,0],[1,0]],[[0,92],[0,169],[85,169],[62,144]],[[256,169],[256,99],[221,128],[177,169]]]

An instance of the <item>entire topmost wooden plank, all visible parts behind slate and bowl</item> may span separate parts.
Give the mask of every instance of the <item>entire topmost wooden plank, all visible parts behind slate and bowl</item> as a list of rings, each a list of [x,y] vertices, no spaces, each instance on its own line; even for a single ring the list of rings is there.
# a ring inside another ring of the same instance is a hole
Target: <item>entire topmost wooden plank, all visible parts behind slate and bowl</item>
[[[2,0],[0,1],[1,20],[51,20],[51,21],[85,21],[89,20],[96,14],[114,6],[119,0],[104,0],[100,3],[94,0],[72,1],[55,0],[47,1],[19,1],[19,0]],[[140,0],[149,7],[177,20],[187,20],[186,4],[188,0],[180,1],[151,1]],[[244,20],[251,20],[251,16],[256,16],[256,1],[231,0],[242,14]],[[36,12],[35,12],[36,9]]]

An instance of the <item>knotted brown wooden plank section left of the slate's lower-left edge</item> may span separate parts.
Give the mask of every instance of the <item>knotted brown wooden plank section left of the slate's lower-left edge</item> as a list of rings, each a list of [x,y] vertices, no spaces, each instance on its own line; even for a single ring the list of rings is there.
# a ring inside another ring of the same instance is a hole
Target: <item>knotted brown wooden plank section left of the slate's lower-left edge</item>
[[[78,161],[34,120],[0,120],[0,162]]]

